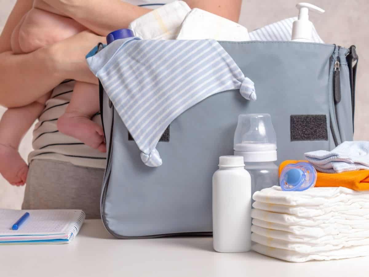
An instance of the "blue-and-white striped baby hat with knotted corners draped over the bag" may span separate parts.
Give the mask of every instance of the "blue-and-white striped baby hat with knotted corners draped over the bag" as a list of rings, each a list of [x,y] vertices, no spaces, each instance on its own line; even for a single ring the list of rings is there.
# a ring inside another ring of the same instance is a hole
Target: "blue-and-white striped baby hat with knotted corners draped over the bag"
[[[256,100],[254,83],[215,40],[116,40],[87,59],[150,167],[169,124],[205,98],[239,89]]]

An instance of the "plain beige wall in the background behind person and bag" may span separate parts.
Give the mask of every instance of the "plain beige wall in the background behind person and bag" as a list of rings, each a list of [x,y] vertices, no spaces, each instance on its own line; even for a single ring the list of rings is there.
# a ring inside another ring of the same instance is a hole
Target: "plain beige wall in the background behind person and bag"
[[[296,16],[297,9],[294,6],[297,2],[298,0],[243,0],[239,22],[252,31],[283,18]],[[326,10],[323,15],[313,13],[310,15],[319,35],[325,42],[345,47],[355,44],[358,49],[360,63],[356,87],[355,139],[369,140],[369,96],[367,93],[369,86],[369,1],[314,0],[308,2]],[[14,3],[15,0],[0,0],[0,31]],[[4,108],[0,107],[0,115],[3,112]],[[28,132],[20,151],[26,158],[30,150],[31,133]],[[11,187],[0,176],[0,208],[20,208],[23,192],[23,188]]]

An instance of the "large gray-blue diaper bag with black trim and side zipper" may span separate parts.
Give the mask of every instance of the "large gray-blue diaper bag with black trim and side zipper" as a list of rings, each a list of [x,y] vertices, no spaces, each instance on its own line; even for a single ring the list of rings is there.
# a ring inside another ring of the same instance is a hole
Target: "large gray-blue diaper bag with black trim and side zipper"
[[[107,143],[101,196],[106,229],[122,239],[211,234],[212,175],[219,157],[233,155],[238,115],[269,113],[277,136],[279,164],[331,150],[354,134],[355,47],[293,41],[221,41],[257,100],[236,90],[201,101],[166,129],[157,149],[160,167],[142,163],[100,84],[100,109]]]

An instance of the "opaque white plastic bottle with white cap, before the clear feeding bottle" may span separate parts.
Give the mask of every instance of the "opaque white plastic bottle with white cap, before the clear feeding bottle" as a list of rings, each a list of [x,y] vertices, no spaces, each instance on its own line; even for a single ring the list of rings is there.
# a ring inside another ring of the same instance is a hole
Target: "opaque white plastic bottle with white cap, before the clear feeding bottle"
[[[251,249],[251,177],[240,156],[220,157],[213,175],[213,247],[228,253]]]

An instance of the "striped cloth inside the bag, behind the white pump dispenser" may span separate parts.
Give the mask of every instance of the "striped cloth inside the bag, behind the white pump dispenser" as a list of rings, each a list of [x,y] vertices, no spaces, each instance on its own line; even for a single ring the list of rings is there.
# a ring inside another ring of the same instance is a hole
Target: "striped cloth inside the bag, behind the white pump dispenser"
[[[281,21],[266,25],[249,33],[250,40],[260,41],[290,41],[292,36],[292,24],[297,17],[286,18]],[[324,43],[319,37],[313,25],[312,41]]]

